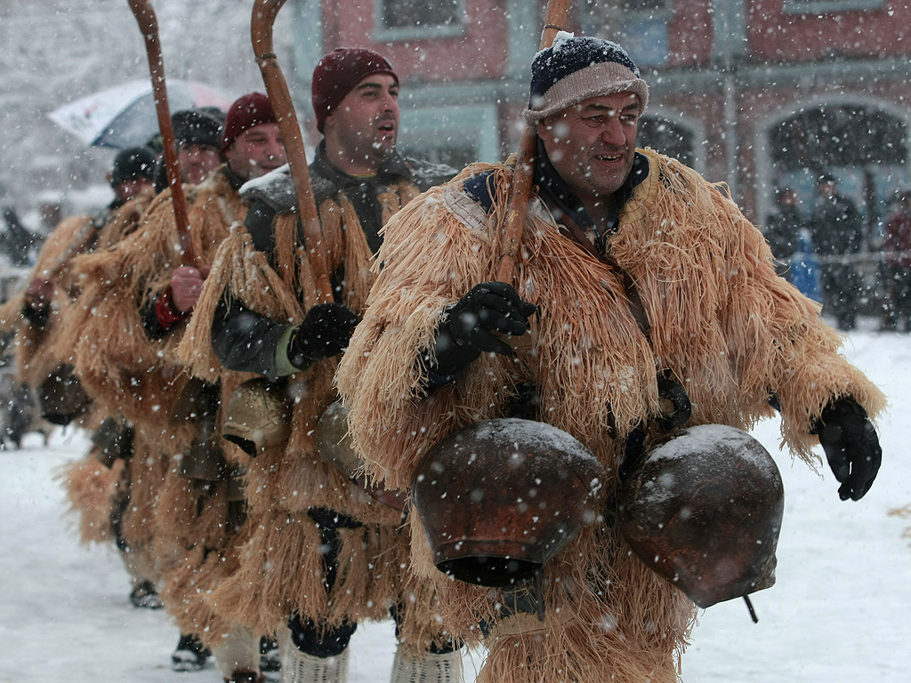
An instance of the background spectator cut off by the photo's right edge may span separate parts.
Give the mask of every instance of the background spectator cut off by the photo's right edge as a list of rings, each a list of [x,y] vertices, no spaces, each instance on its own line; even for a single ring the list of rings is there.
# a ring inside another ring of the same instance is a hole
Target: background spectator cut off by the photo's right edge
[[[899,198],[898,209],[885,225],[885,283],[888,292],[886,329],[911,331],[911,189]]]

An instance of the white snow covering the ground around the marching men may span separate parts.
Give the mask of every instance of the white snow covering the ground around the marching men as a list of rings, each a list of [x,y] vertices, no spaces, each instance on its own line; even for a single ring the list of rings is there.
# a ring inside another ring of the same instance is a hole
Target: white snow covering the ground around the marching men
[[[777,583],[742,601],[701,612],[682,660],[687,683],[905,683],[911,614],[911,524],[888,515],[911,503],[911,345],[900,334],[854,332],[846,355],[886,392],[879,421],[884,464],[860,503],[841,502],[823,477],[778,452],[778,423],[754,435],[782,470],[785,510]],[[77,545],[57,465],[87,450],[79,433],[50,446],[29,435],[22,451],[0,452],[0,683],[217,683],[212,668],[177,674],[169,656],[178,633],[162,611],[131,607],[116,552]],[[358,629],[351,683],[389,679],[390,622]],[[466,659],[466,682],[480,655]]]

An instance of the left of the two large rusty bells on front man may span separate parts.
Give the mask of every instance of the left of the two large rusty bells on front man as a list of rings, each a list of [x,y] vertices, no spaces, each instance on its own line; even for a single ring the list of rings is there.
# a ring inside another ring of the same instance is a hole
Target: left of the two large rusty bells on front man
[[[536,576],[598,518],[605,476],[582,443],[554,426],[487,420],[425,454],[412,501],[438,569],[511,586]]]

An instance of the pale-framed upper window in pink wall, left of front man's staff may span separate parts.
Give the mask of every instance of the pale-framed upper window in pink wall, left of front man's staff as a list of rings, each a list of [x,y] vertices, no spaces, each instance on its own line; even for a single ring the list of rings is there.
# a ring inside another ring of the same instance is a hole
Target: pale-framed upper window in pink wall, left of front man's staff
[[[376,33],[385,40],[457,36],[464,0],[375,0]]]

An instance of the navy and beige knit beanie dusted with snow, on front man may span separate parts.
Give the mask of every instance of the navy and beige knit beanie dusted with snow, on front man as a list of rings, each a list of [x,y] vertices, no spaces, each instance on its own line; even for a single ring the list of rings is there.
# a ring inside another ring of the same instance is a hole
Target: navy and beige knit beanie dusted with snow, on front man
[[[626,50],[609,40],[560,31],[531,63],[531,97],[522,115],[535,123],[589,97],[622,92],[638,95],[640,112],[645,111],[649,87]]]

